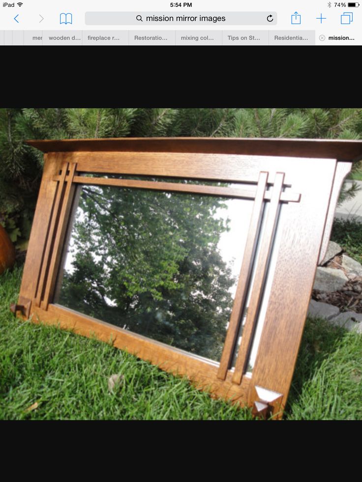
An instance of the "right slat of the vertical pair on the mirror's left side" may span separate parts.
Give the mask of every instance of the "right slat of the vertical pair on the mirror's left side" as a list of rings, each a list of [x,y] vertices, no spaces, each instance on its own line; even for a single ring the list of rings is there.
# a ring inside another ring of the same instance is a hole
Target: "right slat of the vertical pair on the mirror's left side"
[[[64,197],[62,200],[61,211],[59,215],[59,222],[58,222],[56,237],[54,240],[51,261],[49,265],[49,276],[45,286],[44,299],[41,302],[41,308],[43,310],[48,309],[49,299],[50,299],[50,296],[52,295],[52,292],[56,283],[57,275],[58,275],[58,267],[59,267],[59,261],[61,257],[60,245],[62,245],[64,240],[66,226],[67,226],[66,221],[68,219],[68,215],[70,212],[73,193],[75,189],[74,184],[72,183],[75,169],[76,169],[76,164],[71,164],[69,166],[69,177],[65,188]]]

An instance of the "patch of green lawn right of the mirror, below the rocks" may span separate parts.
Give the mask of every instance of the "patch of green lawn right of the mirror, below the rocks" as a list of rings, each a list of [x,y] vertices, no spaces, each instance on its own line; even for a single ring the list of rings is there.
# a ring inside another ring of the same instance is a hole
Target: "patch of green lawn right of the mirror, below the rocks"
[[[285,418],[362,420],[362,336],[308,319]]]

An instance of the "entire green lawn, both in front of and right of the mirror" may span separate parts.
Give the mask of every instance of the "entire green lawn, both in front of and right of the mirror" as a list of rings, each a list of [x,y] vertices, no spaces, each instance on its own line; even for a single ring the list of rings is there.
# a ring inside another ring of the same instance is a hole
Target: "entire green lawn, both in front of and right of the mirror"
[[[15,268],[0,277],[0,419],[250,419],[107,343],[15,319],[9,305],[21,275]],[[109,393],[113,373],[124,379]],[[362,337],[307,320],[285,419],[362,419],[361,378]]]

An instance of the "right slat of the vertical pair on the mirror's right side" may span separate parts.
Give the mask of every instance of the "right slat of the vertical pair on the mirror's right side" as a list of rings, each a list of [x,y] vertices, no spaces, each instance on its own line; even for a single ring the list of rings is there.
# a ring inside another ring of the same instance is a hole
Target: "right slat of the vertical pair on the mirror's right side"
[[[250,304],[246,314],[245,326],[242,331],[241,345],[239,348],[238,358],[235,364],[235,371],[233,375],[234,383],[241,383],[244,366],[246,363],[246,357],[249,353],[250,343],[252,341],[252,335],[256,324],[256,317],[258,313],[259,303],[262,294],[262,288],[265,282],[265,277],[268,268],[268,259],[271,250],[271,244],[273,239],[273,233],[275,230],[277,212],[279,208],[280,194],[283,188],[284,173],[277,172],[275,175],[275,181],[269,206],[268,219],[265,227],[263,239],[261,240],[261,248],[259,259],[257,262],[255,280],[252,286],[252,292],[250,297]]]

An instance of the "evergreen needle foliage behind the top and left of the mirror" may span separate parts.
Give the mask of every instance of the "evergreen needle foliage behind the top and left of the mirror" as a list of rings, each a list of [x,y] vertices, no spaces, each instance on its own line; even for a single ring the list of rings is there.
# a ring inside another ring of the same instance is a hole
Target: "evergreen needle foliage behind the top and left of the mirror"
[[[18,248],[27,245],[43,162],[24,141],[125,136],[361,139],[362,109],[0,109],[0,223]]]

